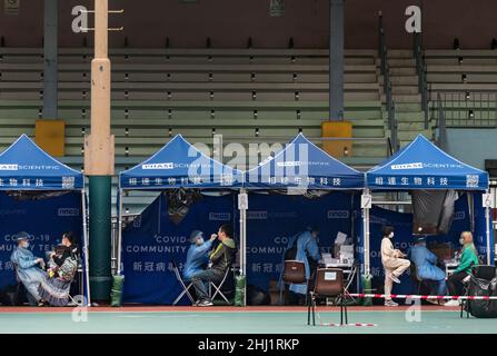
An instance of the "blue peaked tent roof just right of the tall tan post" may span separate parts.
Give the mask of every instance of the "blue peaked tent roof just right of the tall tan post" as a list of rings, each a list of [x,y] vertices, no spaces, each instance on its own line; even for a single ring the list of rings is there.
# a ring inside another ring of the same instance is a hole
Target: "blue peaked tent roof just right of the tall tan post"
[[[231,188],[241,172],[199,151],[181,135],[146,161],[119,174],[122,189]]]

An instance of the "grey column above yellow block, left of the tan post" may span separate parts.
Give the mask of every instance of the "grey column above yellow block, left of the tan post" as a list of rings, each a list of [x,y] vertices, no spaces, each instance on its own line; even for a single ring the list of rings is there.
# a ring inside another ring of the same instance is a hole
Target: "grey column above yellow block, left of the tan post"
[[[59,0],[44,0],[43,118],[57,119]]]

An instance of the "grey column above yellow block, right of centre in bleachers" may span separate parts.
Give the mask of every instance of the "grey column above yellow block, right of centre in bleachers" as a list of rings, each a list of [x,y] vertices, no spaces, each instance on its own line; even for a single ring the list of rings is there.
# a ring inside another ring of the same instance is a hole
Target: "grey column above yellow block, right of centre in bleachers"
[[[344,119],[344,0],[329,4],[329,120]]]

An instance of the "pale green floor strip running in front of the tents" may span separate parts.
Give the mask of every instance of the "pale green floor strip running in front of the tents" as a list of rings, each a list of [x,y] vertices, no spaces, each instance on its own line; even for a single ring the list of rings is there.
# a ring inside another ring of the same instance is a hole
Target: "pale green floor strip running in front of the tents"
[[[325,322],[338,322],[339,314],[322,314]],[[2,313],[0,333],[497,333],[497,319],[460,319],[457,312],[423,312],[420,322],[407,322],[405,312],[355,312],[350,323],[375,323],[376,327],[308,327],[307,314],[286,313],[187,313],[116,312],[91,313],[88,322],[74,323],[71,313]],[[47,327],[49,326],[49,327]]]

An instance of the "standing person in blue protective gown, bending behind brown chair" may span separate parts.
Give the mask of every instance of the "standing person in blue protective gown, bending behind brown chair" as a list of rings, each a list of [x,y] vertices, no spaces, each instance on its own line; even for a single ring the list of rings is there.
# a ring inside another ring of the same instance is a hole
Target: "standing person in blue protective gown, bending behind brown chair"
[[[290,238],[287,251],[295,249],[295,260],[304,263],[306,266],[306,279],[309,281],[316,269],[317,263],[321,259],[318,246],[319,228],[310,226]],[[291,284],[290,304],[302,304],[307,296],[307,285]]]

